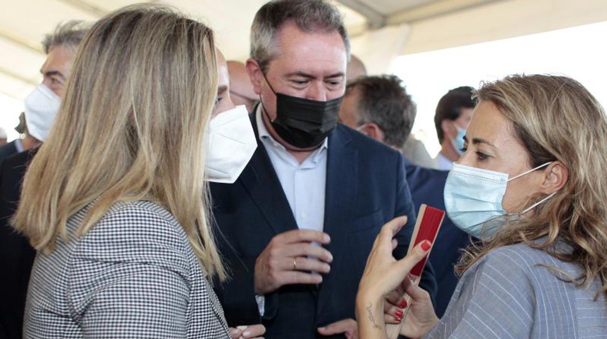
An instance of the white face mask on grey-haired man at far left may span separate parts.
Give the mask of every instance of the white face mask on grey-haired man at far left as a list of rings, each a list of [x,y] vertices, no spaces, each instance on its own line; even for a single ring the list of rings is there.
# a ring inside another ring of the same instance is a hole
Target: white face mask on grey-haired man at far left
[[[61,106],[61,98],[42,84],[25,98],[25,124],[31,136],[45,141]]]

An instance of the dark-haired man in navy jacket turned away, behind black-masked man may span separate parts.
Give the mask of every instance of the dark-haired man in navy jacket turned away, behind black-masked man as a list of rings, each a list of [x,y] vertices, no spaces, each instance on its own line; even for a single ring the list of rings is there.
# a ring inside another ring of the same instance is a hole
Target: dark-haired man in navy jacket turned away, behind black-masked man
[[[402,149],[415,121],[416,107],[397,76],[365,76],[346,88],[339,118],[354,129],[394,149]],[[407,183],[415,203],[445,209],[443,190],[449,172],[415,166],[405,158]],[[457,277],[453,270],[460,250],[470,243],[468,235],[445,216],[430,262],[435,270],[438,294],[436,315],[441,317],[449,304]]]

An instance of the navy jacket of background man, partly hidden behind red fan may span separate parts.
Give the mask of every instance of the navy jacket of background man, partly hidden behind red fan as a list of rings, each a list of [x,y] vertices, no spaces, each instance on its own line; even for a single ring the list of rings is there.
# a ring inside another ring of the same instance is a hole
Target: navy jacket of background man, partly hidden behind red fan
[[[419,209],[421,204],[427,204],[445,210],[443,191],[449,171],[416,166],[407,159],[405,159],[405,169],[415,209]],[[461,256],[461,249],[466,248],[469,244],[469,235],[458,229],[449,216],[445,216],[443,226],[436,236],[432,253],[430,253],[430,263],[432,263],[436,283],[438,283],[435,310],[439,318],[443,316],[458,282],[453,266]]]

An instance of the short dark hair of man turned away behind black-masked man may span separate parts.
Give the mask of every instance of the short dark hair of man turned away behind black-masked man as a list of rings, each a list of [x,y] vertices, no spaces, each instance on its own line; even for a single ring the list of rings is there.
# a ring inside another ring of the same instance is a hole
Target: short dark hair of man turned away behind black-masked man
[[[384,132],[384,143],[399,149],[405,144],[417,108],[396,75],[362,76],[346,87],[358,89],[359,125],[375,123]]]

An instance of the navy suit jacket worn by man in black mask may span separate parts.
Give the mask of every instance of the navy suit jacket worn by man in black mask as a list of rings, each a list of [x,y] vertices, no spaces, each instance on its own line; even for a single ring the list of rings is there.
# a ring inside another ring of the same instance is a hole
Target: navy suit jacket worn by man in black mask
[[[262,320],[254,298],[255,260],[274,236],[297,229],[270,158],[257,138],[257,150],[236,183],[211,183],[220,230],[217,241],[232,276],[216,290],[230,326]],[[266,338],[320,338],[317,327],[354,318],[358,283],[385,222],[407,215],[409,221],[397,235],[395,256],[404,256],[409,246],[416,213],[401,154],[339,124],[329,136],[327,156],[324,232],[331,236],[326,246],[333,255],[331,272],[320,286],[287,285],[265,295]],[[436,281],[431,267],[423,276],[422,287],[433,294]],[[335,338],[339,337],[343,338]]]

